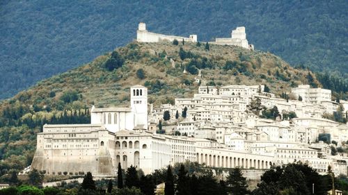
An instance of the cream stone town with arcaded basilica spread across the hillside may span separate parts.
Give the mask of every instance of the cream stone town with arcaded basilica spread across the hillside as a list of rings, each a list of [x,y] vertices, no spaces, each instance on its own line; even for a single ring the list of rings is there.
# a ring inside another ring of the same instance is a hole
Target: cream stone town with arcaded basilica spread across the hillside
[[[91,124],[45,125],[31,168],[56,174],[90,171],[114,176],[117,165],[152,173],[168,164],[269,169],[301,162],[319,173],[347,175],[348,103],[331,91],[299,85],[284,99],[264,85],[200,86],[193,98],[153,108],[148,89],[130,87],[130,108],[95,108]],[[149,109],[150,108],[150,109]]]

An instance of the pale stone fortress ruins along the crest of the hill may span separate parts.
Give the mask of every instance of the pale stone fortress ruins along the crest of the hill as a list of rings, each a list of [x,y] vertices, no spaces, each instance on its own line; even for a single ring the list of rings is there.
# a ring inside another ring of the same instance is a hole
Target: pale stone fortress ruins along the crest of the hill
[[[184,42],[197,42],[197,35],[189,35],[189,37],[179,37],[174,35],[162,35],[157,33],[151,33],[146,30],[146,24],[139,23],[138,30],[136,31],[137,42],[160,42],[161,40],[167,40],[173,42],[173,40]],[[246,40],[245,27],[240,26],[235,30],[232,30],[230,38],[216,38],[215,42],[209,42],[209,44],[221,44],[221,45],[235,45],[241,46],[245,49],[254,49],[253,44],[248,44]]]

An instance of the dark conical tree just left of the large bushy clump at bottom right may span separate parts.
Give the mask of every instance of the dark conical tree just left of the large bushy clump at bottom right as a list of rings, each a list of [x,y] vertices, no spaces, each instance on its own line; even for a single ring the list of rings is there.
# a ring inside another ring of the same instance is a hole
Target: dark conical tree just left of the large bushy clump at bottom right
[[[242,171],[239,168],[232,169],[226,178],[228,192],[233,195],[249,194],[246,178],[243,177]]]

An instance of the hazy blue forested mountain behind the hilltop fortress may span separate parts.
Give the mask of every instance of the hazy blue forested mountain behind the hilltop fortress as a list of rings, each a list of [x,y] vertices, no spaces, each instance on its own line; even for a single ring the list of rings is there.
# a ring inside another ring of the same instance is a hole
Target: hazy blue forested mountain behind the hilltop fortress
[[[201,42],[246,26],[256,49],[347,78],[347,9],[344,0],[4,0],[0,99],[131,42],[139,22],[157,33],[198,34]]]

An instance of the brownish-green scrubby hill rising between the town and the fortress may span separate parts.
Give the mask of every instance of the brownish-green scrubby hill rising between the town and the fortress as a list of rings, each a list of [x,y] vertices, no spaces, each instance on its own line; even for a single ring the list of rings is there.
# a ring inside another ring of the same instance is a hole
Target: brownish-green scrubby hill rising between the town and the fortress
[[[43,124],[89,123],[90,105],[128,106],[132,85],[148,87],[149,103],[174,103],[197,92],[196,78],[202,85],[264,84],[278,95],[300,83],[321,86],[313,72],[294,69],[271,53],[218,45],[207,50],[190,42],[131,42],[0,103],[0,176],[31,164]]]

